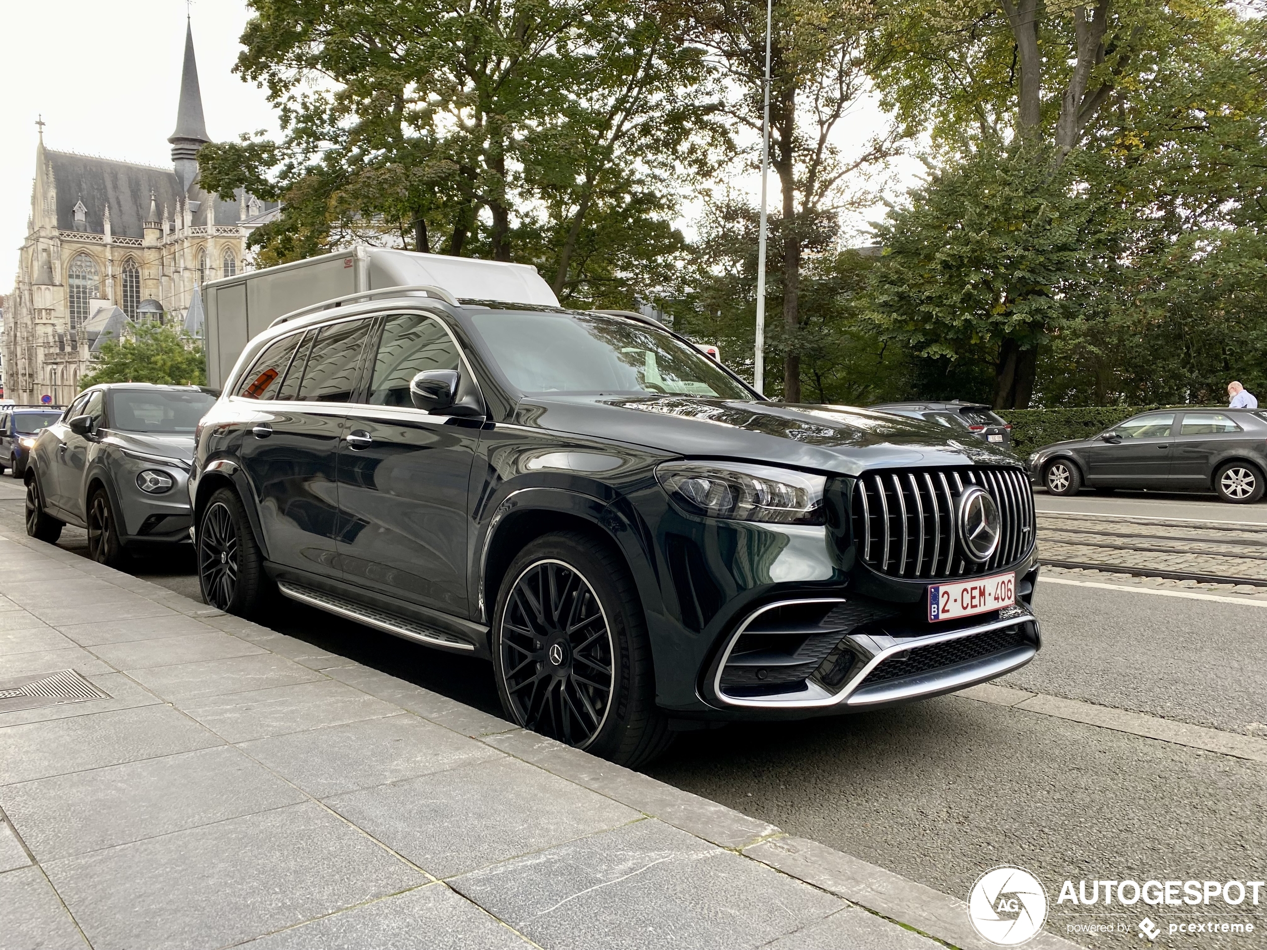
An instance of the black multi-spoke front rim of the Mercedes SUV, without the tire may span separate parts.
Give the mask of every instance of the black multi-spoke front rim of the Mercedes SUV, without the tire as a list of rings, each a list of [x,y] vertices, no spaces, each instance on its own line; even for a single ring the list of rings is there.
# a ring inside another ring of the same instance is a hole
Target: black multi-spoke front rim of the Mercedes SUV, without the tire
[[[519,574],[502,618],[502,668],[516,718],[584,749],[603,728],[616,671],[612,631],[585,576],[555,560]]]

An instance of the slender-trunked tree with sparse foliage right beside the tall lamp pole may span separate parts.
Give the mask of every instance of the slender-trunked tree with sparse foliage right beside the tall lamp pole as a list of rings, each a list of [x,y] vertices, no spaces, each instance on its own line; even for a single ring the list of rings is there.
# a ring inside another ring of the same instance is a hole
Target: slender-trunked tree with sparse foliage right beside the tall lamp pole
[[[691,4],[693,35],[723,65],[721,82],[732,90],[727,114],[761,129],[765,73],[765,4],[704,0]],[[897,127],[845,155],[834,134],[868,87],[864,51],[874,27],[870,3],[779,0],[770,32],[770,166],[782,196],[780,279],[783,298],[783,398],[801,400],[798,334],[801,275],[807,246],[834,231],[850,203],[865,201],[849,186],[854,176],[895,152]],[[748,156],[751,158],[751,153]]]

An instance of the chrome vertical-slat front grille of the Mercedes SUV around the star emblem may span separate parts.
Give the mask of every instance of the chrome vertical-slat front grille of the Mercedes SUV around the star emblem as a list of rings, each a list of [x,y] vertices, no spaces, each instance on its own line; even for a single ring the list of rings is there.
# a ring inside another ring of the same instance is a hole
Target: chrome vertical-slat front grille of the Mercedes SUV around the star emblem
[[[990,560],[964,556],[958,543],[959,495],[984,489],[1002,518]],[[1020,469],[958,467],[873,471],[858,478],[854,542],[863,564],[893,578],[963,578],[1019,561],[1034,546],[1034,495]]]

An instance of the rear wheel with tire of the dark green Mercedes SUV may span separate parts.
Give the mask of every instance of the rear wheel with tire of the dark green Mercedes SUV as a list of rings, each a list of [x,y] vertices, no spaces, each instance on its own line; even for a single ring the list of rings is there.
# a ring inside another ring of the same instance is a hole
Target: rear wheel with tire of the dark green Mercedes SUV
[[[218,489],[203,508],[196,532],[198,584],[212,607],[258,617],[271,603],[272,581],[237,491]]]

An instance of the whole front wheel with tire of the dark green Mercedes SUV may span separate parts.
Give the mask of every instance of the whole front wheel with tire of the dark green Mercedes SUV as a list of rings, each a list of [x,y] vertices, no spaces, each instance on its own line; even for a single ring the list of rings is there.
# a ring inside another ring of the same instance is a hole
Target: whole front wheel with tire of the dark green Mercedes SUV
[[[512,722],[630,768],[673,741],[642,605],[606,545],[578,532],[530,542],[502,580],[492,646]]]

